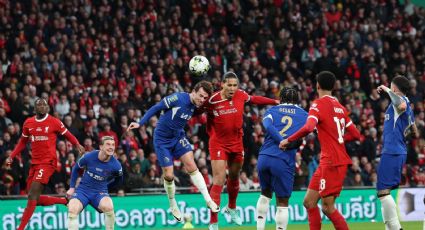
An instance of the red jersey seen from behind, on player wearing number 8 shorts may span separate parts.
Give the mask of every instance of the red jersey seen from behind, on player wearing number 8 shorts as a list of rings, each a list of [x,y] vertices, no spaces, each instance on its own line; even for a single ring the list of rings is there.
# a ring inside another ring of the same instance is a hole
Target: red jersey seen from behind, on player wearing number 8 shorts
[[[308,119],[316,119],[321,146],[321,165],[348,165],[351,158],[345,150],[345,128],[352,125],[347,111],[338,100],[323,96],[313,102]]]

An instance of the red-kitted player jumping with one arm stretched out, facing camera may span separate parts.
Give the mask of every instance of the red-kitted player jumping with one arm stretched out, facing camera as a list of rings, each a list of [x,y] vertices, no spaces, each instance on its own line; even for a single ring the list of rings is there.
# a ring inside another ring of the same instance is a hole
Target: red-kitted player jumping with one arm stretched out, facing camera
[[[209,151],[213,172],[213,186],[210,195],[220,204],[220,194],[226,179],[226,167],[229,169],[227,191],[229,203],[224,208],[232,221],[242,224],[236,211],[236,197],[239,192],[239,172],[244,160],[243,148],[243,112],[245,103],[258,105],[276,105],[279,101],[261,96],[250,96],[239,89],[239,80],[235,73],[227,72],[223,76],[222,89],[215,92],[204,104],[207,111],[207,132],[210,136]],[[209,229],[218,229],[217,213],[211,213]]]

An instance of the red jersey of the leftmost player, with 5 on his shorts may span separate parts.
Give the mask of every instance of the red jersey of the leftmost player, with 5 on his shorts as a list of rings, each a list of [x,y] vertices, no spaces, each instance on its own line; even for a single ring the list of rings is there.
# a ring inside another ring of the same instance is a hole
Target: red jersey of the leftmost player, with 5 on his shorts
[[[53,164],[56,166],[56,139],[57,135],[64,135],[68,129],[57,118],[47,114],[41,120],[35,116],[25,120],[22,127],[22,136],[31,141],[32,164]]]

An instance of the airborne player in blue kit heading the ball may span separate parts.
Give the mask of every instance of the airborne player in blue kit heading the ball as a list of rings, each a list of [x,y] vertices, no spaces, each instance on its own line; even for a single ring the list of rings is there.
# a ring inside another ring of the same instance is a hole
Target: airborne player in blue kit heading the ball
[[[220,208],[211,199],[207,185],[202,174],[193,159],[192,145],[186,138],[184,127],[192,117],[196,108],[204,104],[213,91],[212,84],[200,81],[195,85],[191,93],[179,92],[165,97],[152,106],[142,117],[139,123],[132,122],[127,131],[139,128],[146,124],[155,114],[162,111],[156,125],[153,144],[158,155],[159,164],[162,167],[164,188],[168,195],[170,210],[173,217],[181,222],[182,215],[175,199],[176,187],[174,184],[174,159],[180,159],[192,179],[193,184],[204,196],[208,208],[212,212],[218,212]]]

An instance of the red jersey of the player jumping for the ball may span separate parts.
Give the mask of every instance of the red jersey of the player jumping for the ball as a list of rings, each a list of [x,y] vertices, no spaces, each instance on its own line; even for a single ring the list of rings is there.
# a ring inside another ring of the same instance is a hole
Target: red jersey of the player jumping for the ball
[[[250,96],[239,89],[232,99],[223,99],[220,91],[215,92],[205,103],[207,110],[207,132],[210,148],[220,147],[228,152],[243,152],[243,113],[246,102],[273,105],[275,100],[261,96]]]

